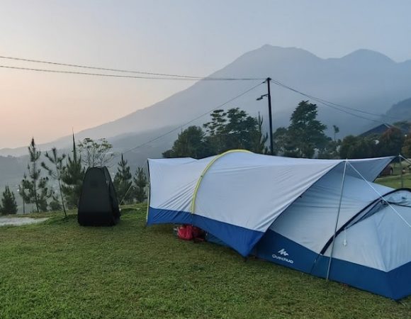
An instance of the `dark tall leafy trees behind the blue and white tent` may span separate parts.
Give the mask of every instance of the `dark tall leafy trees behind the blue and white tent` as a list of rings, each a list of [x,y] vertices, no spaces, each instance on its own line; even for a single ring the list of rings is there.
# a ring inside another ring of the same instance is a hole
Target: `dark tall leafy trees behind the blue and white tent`
[[[354,159],[392,156],[402,153],[411,157],[411,123],[394,123],[381,135],[348,135],[337,139],[339,128],[332,125],[333,138],[325,134],[327,125],[317,118],[317,105],[300,101],[288,127],[277,128],[273,134],[274,155],[322,159]],[[268,135],[263,133],[263,118],[252,117],[240,108],[215,110],[210,122],[190,126],[179,133],[163,157],[203,158],[231,149],[247,149],[267,154]]]

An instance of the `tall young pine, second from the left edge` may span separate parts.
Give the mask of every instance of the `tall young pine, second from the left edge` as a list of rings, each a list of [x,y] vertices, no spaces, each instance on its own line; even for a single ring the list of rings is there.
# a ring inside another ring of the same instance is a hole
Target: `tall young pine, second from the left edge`
[[[40,151],[35,147],[34,138],[28,147],[30,155],[30,162],[27,166],[28,175],[24,174],[21,181],[21,196],[26,203],[34,203],[35,209],[40,211],[47,211],[47,198],[52,195],[47,187],[48,177],[41,177],[41,170],[38,168],[38,160],[40,159]]]

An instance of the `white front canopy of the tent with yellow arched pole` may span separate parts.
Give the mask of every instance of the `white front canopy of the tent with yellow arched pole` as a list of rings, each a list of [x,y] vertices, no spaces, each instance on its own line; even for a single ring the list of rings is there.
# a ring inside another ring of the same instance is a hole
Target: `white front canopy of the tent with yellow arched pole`
[[[373,181],[391,160],[382,157],[349,162]],[[206,218],[210,228],[219,228],[217,222],[230,231],[248,233],[244,241],[233,238],[227,243],[246,256],[274,220],[316,181],[330,171],[341,179],[344,160],[273,157],[234,150],[198,160],[149,159],[149,167],[152,208]],[[347,175],[358,177],[352,167]],[[150,222],[155,222],[156,215],[150,216]],[[216,230],[209,231],[217,236]]]

